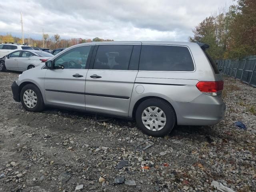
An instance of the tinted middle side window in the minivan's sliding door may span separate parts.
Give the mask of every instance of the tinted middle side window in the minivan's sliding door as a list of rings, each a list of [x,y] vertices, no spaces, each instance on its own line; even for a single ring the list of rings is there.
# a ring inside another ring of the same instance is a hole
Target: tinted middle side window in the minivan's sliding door
[[[94,69],[128,70],[133,45],[100,45]]]

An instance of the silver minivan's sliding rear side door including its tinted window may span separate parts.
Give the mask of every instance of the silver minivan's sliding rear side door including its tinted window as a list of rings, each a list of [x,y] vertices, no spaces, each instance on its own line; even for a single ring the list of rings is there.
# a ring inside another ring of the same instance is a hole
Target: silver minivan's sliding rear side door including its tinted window
[[[134,44],[96,47],[86,76],[86,110],[128,116],[140,47]]]

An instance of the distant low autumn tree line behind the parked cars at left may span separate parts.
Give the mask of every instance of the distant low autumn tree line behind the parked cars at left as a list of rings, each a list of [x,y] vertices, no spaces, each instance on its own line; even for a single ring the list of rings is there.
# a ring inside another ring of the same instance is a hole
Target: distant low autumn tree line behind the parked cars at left
[[[112,39],[102,39],[95,37],[91,39],[82,39],[82,38],[71,38],[71,39],[61,39],[59,34],[54,34],[51,38],[48,34],[44,34],[43,40],[36,40],[33,38],[29,38],[29,45],[33,47],[43,47],[49,48],[51,50],[57,48],[66,48],[79,43],[87,43],[87,42],[96,42],[96,41],[114,41]],[[12,36],[11,33],[7,33],[6,35],[0,35],[0,43],[19,43],[22,44],[22,39],[18,37]],[[24,43],[28,44],[28,38],[24,38]]]

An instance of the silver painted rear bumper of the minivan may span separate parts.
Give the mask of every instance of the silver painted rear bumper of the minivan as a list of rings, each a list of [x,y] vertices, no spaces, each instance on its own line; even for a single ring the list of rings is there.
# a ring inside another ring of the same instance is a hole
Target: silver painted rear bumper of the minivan
[[[215,125],[224,118],[226,110],[226,104],[220,97],[204,94],[192,102],[171,102],[171,104],[176,111],[178,125]]]

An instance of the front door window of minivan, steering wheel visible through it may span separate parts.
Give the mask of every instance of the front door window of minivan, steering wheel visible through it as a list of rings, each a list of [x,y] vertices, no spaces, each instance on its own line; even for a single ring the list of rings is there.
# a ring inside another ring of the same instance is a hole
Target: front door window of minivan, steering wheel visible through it
[[[64,66],[64,69],[85,69],[92,46],[80,46],[70,49],[55,59],[54,66]]]

